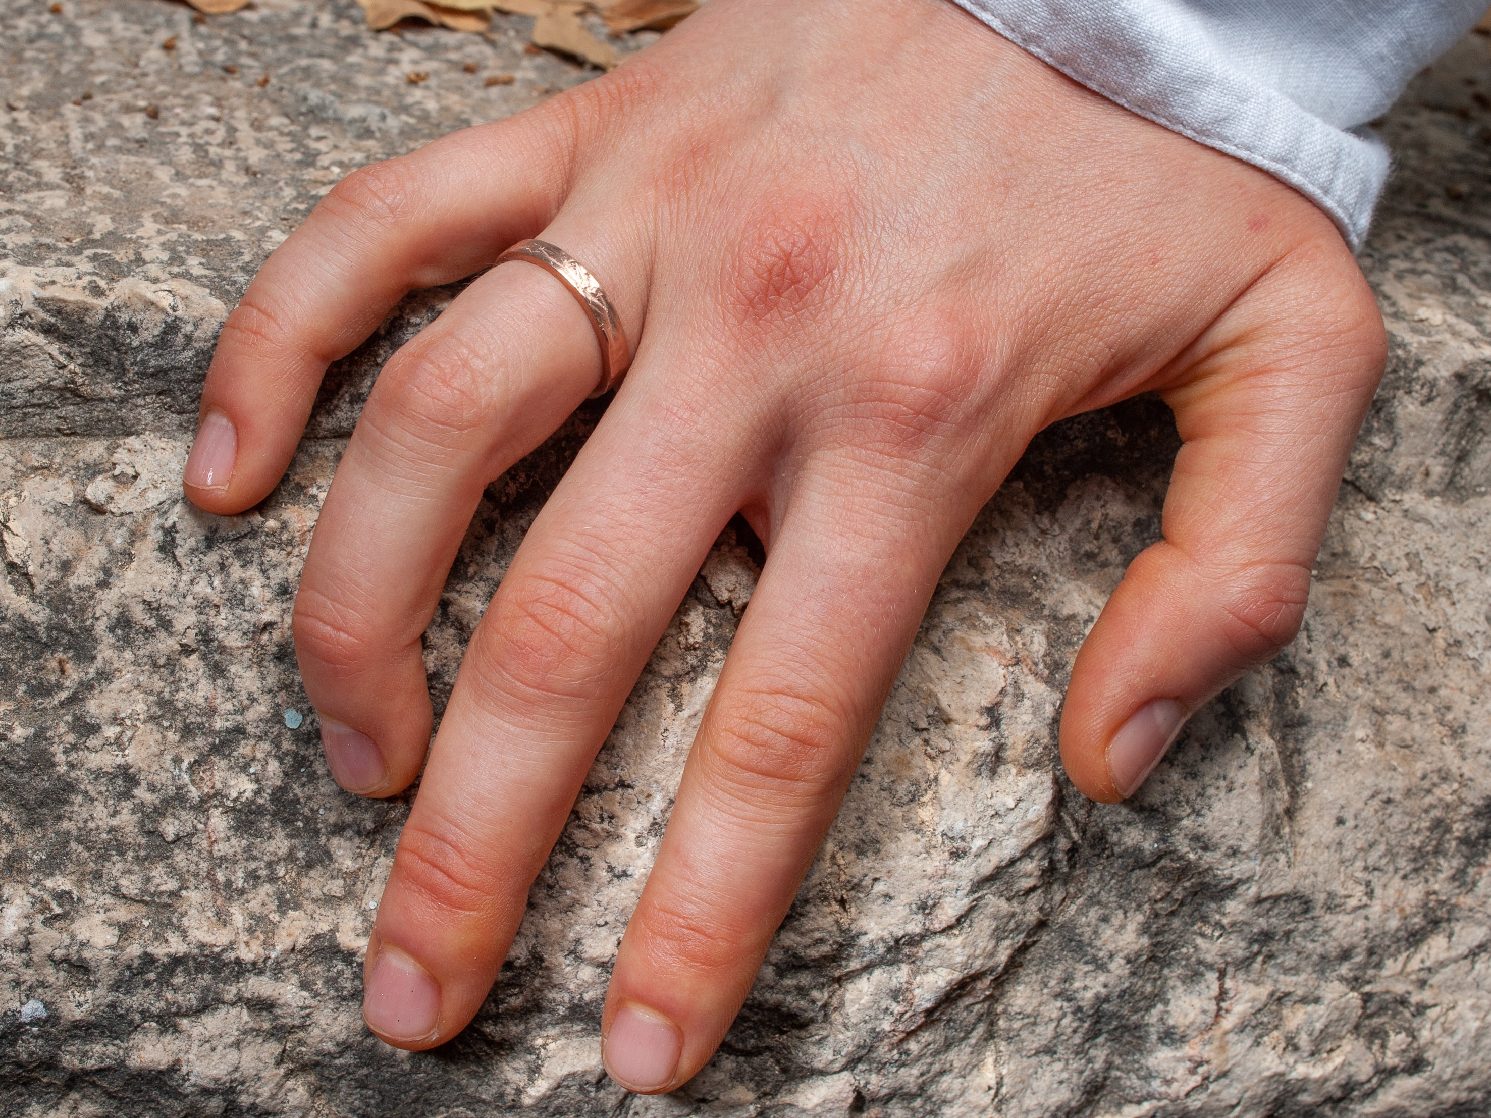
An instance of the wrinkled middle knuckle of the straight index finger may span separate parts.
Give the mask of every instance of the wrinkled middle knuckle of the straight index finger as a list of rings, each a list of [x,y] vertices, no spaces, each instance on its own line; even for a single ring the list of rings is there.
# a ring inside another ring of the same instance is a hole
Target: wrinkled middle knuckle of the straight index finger
[[[716,787],[777,808],[817,802],[844,775],[841,719],[819,698],[741,690],[711,719],[707,762]]]

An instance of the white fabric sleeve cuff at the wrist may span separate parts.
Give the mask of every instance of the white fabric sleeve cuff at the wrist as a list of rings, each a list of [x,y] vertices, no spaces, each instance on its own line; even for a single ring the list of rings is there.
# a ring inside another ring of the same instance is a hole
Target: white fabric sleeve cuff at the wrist
[[[954,0],[1103,97],[1261,167],[1361,247],[1388,176],[1367,128],[1487,0]]]

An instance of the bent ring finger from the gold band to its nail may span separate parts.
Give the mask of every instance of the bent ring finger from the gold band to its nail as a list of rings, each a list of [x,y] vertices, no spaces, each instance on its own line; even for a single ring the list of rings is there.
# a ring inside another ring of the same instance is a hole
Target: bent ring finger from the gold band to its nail
[[[431,726],[420,637],[482,490],[599,370],[589,318],[523,262],[477,279],[383,370],[295,598],[295,654],[341,787],[388,796],[419,774]]]

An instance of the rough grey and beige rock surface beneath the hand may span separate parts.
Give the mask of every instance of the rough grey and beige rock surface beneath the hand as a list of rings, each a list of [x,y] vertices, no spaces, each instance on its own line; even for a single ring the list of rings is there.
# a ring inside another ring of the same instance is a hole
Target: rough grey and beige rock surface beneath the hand
[[[1176,441],[1153,401],[1042,435],[950,563],[719,1057],[638,1099],[599,1070],[601,999],[750,550],[722,540],[696,580],[486,1008],[410,1055],[358,1012],[407,803],[327,777],[288,616],[371,377],[450,292],[341,362],[261,508],[204,516],[176,481],[225,309],[331,182],[584,75],[525,55],[519,19],[373,36],[340,0],[63,9],[0,0],[0,1111],[1491,1109],[1485,39],[1385,124],[1402,168],[1361,259],[1393,358],[1294,645],[1135,800],[1077,795],[1062,689],[1159,532]],[[437,708],[599,414],[488,492],[428,634]]]

